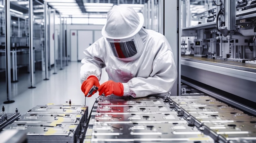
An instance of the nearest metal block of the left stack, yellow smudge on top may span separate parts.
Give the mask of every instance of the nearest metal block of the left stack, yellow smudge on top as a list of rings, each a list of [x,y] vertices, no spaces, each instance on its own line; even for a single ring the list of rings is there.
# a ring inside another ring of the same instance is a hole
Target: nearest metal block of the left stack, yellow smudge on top
[[[77,124],[19,122],[8,125],[4,130],[26,130],[29,143],[76,143],[80,132]]]

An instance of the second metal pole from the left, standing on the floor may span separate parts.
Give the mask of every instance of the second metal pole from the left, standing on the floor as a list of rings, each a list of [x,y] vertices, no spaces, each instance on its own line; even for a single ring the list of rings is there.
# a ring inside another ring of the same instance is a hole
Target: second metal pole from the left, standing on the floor
[[[30,87],[34,86],[34,45],[33,45],[33,0],[29,0],[29,74],[30,74]]]

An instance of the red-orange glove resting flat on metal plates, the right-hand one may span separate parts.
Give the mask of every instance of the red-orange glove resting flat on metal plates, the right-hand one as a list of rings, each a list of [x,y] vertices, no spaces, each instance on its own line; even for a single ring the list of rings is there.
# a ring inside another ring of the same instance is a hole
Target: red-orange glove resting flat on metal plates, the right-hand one
[[[115,81],[106,81],[101,86],[99,86],[99,95],[102,95],[102,93],[105,94],[105,96],[114,94],[117,96],[123,96],[124,95],[124,86],[120,82]]]

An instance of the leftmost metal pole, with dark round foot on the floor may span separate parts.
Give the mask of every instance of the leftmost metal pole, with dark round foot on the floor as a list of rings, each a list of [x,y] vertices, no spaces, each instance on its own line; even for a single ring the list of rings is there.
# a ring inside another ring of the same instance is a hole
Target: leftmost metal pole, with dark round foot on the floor
[[[10,0],[5,0],[5,79],[6,79],[6,88],[7,88],[7,101],[4,101],[4,104],[13,103],[15,101],[9,99],[11,95],[11,35],[10,35]]]

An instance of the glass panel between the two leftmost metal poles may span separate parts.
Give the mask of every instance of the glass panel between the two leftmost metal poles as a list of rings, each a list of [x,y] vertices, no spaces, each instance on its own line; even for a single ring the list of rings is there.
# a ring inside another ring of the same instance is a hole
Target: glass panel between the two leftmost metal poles
[[[13,97],[27,90],[29,87],[29,43],[28,43],[28,13],[24,1],[24,7],[18,8],[17,1],[10,2],[11,11],[11,94]]]

